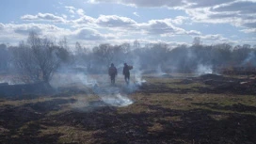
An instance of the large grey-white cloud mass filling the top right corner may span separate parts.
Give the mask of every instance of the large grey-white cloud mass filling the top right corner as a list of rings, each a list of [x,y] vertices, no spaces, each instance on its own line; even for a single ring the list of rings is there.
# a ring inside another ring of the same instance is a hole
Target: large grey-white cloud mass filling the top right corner
[[[256,20],[255,0],[88,0],[88,3],[116,3],[142,8],[178,8],[184,10],[194,23],[232,24],[245,29],[251,28],[251,25],[245,21],[254,23]],[[252,19],[248,20],[248,17]],[[179,22],[177,19],[172,24],[183,24],[183,21]]]

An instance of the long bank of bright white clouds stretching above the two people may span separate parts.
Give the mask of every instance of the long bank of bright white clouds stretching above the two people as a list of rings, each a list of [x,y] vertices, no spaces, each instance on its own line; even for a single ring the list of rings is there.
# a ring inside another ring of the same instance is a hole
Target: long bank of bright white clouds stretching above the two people
[[[119,34],[120,37],[123,38],[131,37],[131,35],[160,35],[162,37],[173,37],[175,35],[200,35],[199,31],[186,31],[183,28],[174,26],[174,24],[184,24],[186,20],[188,20],[187,17],[178,16],[175,19],[151,20],[147,23],[137,23],[131,18],[117,15],[100,15],[96,19],[84,15],[79,19],[73,20],[72,24],[75,24],[73,27],[80,28],[93,27],[93,29],[102,29],[107,27],[105,30],[110,33],[115,32],[115,34]]]

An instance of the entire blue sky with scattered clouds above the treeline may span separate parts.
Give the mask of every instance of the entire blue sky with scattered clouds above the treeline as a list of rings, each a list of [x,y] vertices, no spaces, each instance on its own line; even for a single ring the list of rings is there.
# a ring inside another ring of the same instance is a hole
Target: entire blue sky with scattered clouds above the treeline
[[[256,45],[256,0],[1,0],[0,43],[29,32],[84,47],[165,42]]]

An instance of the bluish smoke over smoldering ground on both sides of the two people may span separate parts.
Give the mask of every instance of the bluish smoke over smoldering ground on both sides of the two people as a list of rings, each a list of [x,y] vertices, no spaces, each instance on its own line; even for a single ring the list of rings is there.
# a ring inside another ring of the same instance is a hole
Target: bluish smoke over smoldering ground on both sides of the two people
[[[88,111],[102,106],[127,106],[134,103],[129,98],[129,94],[135,92],[145,82],[141,77],[142,72],[138,69],[130,72],[129,85],[125,83],[123,75],[119,71],[116,84],[113,86],[110,84],[108,74],[73,72],[62,69],[62,72],[56,73],[51,80],[51,86],[59,91],[80,92],[80,95],[75,97],[76,103],[72,104],[72,107],[79,111]]]

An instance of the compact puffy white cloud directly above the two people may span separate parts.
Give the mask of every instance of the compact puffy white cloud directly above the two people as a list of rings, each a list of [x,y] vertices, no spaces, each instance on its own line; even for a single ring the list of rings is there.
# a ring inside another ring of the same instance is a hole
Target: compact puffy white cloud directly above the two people
[[[120,17],[117,15],[101,15],[97,19],[97,24],[106,27],[130,27],[136,22],[127,17]]]

